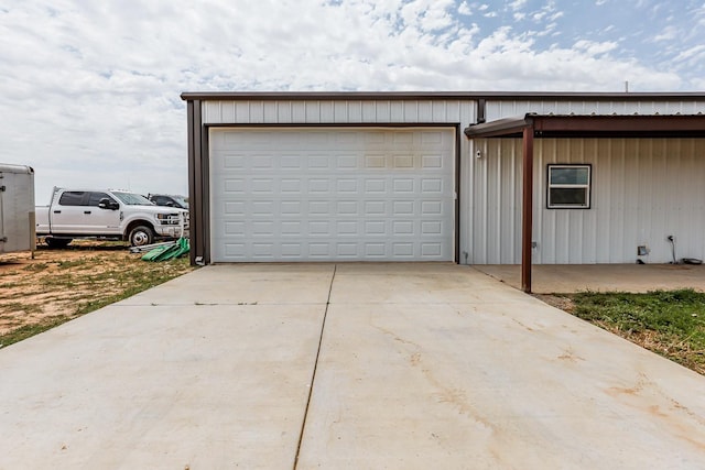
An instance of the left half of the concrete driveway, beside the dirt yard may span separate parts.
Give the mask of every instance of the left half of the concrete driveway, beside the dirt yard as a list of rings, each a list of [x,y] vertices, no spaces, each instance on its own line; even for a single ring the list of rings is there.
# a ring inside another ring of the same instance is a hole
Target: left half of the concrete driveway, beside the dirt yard
[[[186,277],[0,349],[0,469],[292,468],[330,277],[285,305],[193,305],[228,275]]]

